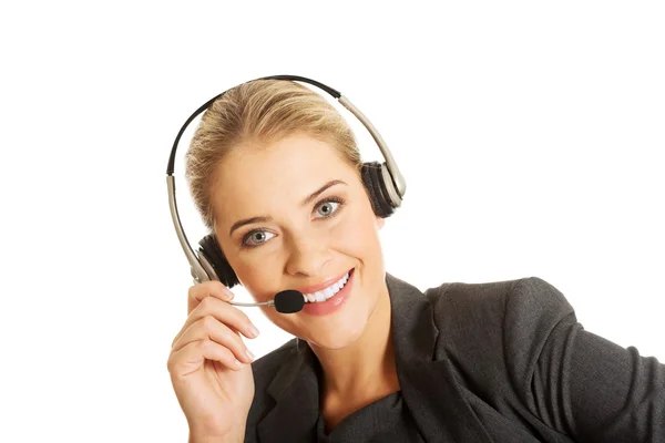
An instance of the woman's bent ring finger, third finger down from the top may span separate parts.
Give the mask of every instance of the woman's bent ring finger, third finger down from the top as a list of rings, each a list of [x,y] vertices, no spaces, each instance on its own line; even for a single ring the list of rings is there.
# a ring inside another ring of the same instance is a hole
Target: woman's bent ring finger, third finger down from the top
[[[245,347],[241,337],[212,316],[205,316],[190,324],[174,341],[173,351],[176,352],[194,341],[206,340],[227,348],[238,361],[252,363],[253,357],[248,353],[247,347]]]

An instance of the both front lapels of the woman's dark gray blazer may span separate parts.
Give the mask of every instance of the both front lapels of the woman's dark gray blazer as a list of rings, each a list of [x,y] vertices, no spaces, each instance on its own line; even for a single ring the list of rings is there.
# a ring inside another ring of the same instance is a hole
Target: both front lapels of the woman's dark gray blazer
[[[437,360],[439,329],[430,300],[390,274],[386,284],[400,390],[423,439],[491,442],[454,380],[450,361]],[[294,354],[268,385],[275,406],[257,424],[259,441],[315,441],[320,378],[321,368],[309,344],[296,339]]]

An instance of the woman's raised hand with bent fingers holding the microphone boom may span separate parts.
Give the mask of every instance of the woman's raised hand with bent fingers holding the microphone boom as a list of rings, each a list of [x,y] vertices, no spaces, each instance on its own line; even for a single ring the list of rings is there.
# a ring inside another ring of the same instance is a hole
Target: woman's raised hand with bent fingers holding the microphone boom
[[[242,441],[254,400],[253,357],[239,334],[255,338],[258,330],[243,311],[224,301],[232,297],[219,281],[192,286],[188,317],[168,356],[173,389],[190,435],[197,437]]]

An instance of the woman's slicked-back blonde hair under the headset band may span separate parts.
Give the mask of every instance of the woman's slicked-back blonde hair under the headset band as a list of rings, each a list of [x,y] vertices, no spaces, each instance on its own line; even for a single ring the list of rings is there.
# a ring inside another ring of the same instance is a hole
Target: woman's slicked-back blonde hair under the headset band
[[[293,81],[255,80],[228,90],[203,115],[185,156],[194,204],[213,231],[212,192],[222,159],[242,145],[304,133],[338,150],[360,176],[362,162],[351,128],[320,94]]]

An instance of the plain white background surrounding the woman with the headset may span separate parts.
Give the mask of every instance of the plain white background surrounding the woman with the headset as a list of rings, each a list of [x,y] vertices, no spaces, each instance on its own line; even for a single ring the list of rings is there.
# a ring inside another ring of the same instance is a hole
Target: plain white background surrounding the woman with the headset
[[[662,2],[18,3],[0,8],[0,441],[186,441],[167,157],[197,106],[272,74],[340,90],[391,147],[389,272],[538,276],[586,330],[665,360]],[[244,309],[255,354],[290,339]]]

